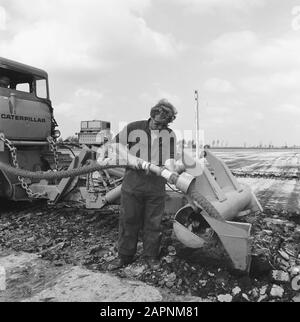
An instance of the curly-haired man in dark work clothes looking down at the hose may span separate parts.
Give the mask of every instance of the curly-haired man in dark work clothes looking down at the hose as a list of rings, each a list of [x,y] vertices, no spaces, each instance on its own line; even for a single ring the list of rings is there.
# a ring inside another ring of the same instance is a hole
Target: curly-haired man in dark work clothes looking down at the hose
[[[175,107],[161,100],[150,119],[128,124],[115,138],[129,153],[158,166],[176,157],[176,136],[168,128],[176,118]],[[162,216],[166,180],[144,170],[128,169],[122,185],[119,222],[119,256],[108,267],[114,270],[134,261],[139,231],[143,233],[144,257],[152,269],[159,268]]]

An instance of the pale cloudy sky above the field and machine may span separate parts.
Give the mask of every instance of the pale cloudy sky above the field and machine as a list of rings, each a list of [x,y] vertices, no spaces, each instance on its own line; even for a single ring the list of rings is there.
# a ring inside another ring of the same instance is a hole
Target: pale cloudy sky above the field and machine
[[[0,56],[48,72],[64,138],[162,98],[194,130],[198,90],[207,143],[300,145],[300,0],[0,0]]]

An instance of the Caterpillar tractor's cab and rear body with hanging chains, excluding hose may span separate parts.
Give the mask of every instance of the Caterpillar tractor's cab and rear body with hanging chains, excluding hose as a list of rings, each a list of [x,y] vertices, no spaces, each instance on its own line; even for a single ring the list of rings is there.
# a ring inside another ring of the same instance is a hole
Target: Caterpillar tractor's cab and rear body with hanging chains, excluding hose
[[[58,153],[55,160],[50,150],[55,148],[55,140],[60,136],[57,126],[49,96],[48,74],[0,58],[0,161],[31,171],[55,168]],[[0,169],[0,197],[28,200],[29,183],[32,182],[26,178]]]

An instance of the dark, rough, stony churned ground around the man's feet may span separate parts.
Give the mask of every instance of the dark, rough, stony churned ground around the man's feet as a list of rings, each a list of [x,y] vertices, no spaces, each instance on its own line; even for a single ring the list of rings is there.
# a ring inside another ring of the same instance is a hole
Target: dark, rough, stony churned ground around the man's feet
[[[155,290],[159,290],[161,300],[299,301],[300,217],[263,206],[263,214],[251,214],[241,220],[253,224],[253,260],[249,276],[231,269],[217,240],[214,241],[215,252],[206,248],[184,248],[175,239],[172,217],[167,215],[163,220],[161,269],[149,270],[139,243],[136,262],[109,274],[111,278],[124,279],[124,283],[127,280],[145,282],[144,287],[155,287],[151,288],[154,298],[158,296]],[[53,290],[57,281],[59,285],[64,284],[68,276],[76,289],[78,278],[86,278],[92,285],[95,283],[93,274],[107,273],[107,264],[116,257],[117,206],[88,211],[75,203],[48,206],[43,202],[1,201],[0,209],[0,258],[19,252],[38,256],[25,266],[19,266],[19,271],[15,267],[8,272],[8,288],[0,293],[1,301],[34,300],[37,299],[34,296],[47,287],[50,293],[40,294],[39,300],[64,300],[60,286]],[[73,300],[85,300],[78,295],[82,292],[76,294]]]

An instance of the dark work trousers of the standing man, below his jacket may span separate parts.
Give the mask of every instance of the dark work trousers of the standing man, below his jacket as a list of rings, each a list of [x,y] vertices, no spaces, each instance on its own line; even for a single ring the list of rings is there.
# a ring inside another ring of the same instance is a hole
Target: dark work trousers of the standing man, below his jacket
[[[159,256],[164,209],[164,194],[151,196],[122,190],[119,222],[120,256],[135,255],[141,229],[143,230],[144,256]]]

